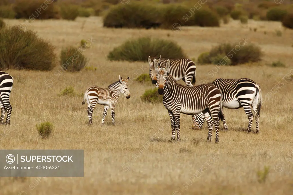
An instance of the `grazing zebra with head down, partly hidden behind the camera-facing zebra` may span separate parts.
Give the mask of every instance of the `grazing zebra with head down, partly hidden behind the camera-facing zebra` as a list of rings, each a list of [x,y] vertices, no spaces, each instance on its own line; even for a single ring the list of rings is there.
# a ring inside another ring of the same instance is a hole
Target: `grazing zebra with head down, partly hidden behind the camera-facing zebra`
[[[212,85],[216,86],[222,95],[222,104],[225,108],[238,109],[243,107],[248,117],[247,133],[251,131],[251,125],[253,121],[254,112],[256,122],[256,133],[259,132],[259,117],[261,108],[261,90],[258,83],[249,78],[239,79],[224,79],[217,78],[212,82]],[[225,126],[224,130],[227,130],[225,118],[222,120]],[[201,128],[205,122],[205,117],[202,113],[195,115],[193,119],[193,127]]]

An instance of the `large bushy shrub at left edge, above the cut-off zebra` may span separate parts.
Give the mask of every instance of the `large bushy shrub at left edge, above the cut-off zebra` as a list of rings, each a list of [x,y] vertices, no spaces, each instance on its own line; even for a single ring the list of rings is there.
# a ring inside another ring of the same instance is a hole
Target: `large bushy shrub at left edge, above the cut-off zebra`
[[[21,33],[19,26],[0,30],[0,68],[51,70],[54,68],[55,47],[39,38],[36,32]]]

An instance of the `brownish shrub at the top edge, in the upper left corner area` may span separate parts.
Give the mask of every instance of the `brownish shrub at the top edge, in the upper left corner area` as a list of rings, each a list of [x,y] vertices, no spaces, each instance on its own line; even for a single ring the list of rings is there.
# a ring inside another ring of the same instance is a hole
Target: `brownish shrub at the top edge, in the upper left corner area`
[[[17,0],[13,10],[16,13],[16,18],[31,20],[58,18],[54,4],[51,3],[46,6],[43,0]]]

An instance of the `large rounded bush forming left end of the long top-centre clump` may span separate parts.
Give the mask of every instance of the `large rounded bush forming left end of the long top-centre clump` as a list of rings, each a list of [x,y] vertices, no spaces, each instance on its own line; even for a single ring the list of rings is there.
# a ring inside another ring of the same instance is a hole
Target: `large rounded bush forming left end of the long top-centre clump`
[[[104,27],[151,28],[159,26],[161,12],[155,6],[133,1],[112,6],[103,19]],[[177,18],[178,19],[178,18]]]

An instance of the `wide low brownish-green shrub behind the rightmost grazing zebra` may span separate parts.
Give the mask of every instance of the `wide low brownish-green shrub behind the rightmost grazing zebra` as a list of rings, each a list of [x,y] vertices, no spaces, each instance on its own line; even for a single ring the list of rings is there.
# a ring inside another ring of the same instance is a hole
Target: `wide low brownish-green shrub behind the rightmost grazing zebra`
[[[211,49],[210,52],[206,52],[201,54],[198,57],[198,62],[200,64],[220,64],[222,65],[237,65],[244,64],[248,62],[256,62],[260,61],[260,57],[262,56],[262,52],[258,46],[253,44],[245,44],[243,47],[238,45],[237,49],[235,49],[237,44],[220,44]]]

